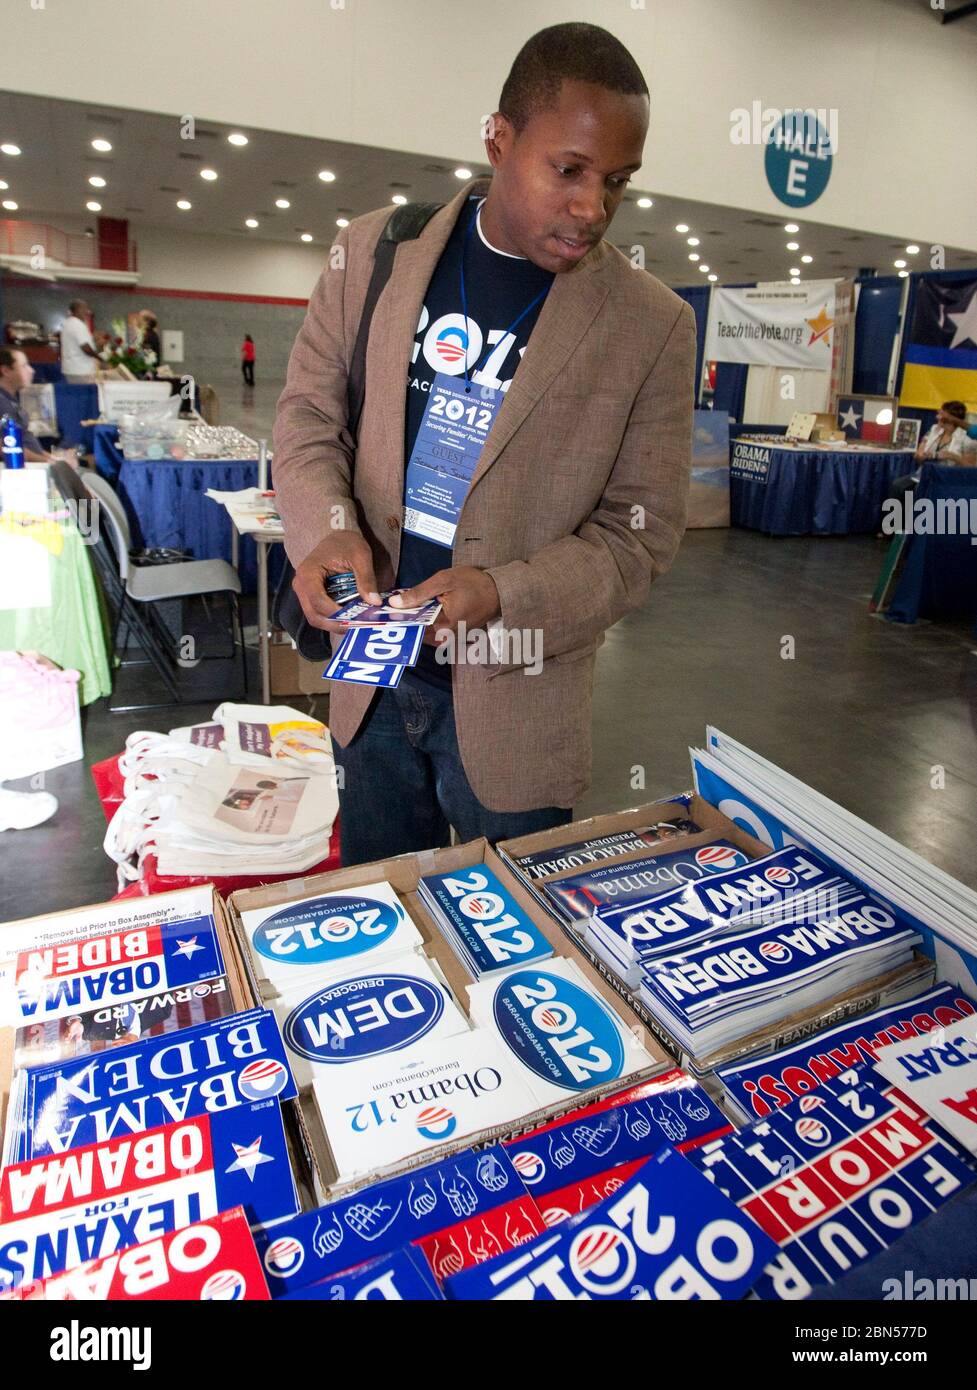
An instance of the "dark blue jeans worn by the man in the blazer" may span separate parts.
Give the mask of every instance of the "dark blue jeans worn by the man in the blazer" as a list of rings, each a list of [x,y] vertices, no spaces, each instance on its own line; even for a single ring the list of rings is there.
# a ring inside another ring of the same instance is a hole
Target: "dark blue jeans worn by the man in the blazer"
[[[566,826],[573,812],[488,810],[468,784],[452,692],[406,671],[395,689],[378,691],[347,748],[342,767],[339,844],[343,866],[370,863],[485,835],[495,844],[535,830]]]

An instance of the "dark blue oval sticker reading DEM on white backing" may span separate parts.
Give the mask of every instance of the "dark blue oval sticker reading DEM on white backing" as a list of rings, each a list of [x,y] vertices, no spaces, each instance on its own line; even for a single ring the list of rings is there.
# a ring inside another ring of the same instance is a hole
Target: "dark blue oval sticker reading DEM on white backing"
[[[409,974],[339,980],[292,1009],[285,1041],[310,1062],[361,1062],[417,1042],[445,1012],[445,995]]]

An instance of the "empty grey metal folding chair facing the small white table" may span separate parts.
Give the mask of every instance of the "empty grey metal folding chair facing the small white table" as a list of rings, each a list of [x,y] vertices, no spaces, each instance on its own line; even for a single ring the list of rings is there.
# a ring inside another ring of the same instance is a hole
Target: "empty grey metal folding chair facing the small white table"
[[[136,638],[139,646],[146,653],[146,662],[126,662],[121,659],[121,666],[151,664],[170,694],[168,701],[151,705],[111,705],[113,712],[136,709],[161,709],[167,705],[182,703],[182,694],[176,678],[181,659],[174,652],[174,638],[165,623],[157,613],[154,605],[172,599],[200,598],[204,600],[208,594],[224,594],[228,599],[231,613],[231,653],[235,646],[240,646],[240,669],[243,678],[243,692],[247,694],[247,652],[245,648],[245,634],[240,621],[240,578],[233,566],[227,560],[178,560],[172,564],[135,564],[132,560],[132,534],[129,520],[115,489],[99,477],[97,473],[86,471],[82,475],[86,491],[99,505],[99,517],[107,523],[111,537],[111,549],[118,567],[118,574],[113,575],[108,585],[110,596],[115,602],[115,626],[113,630],[113,648],[120,645],[121,651],[128,646],[129,632]],[[203,660],[221,659],[202,657]],[[196,663],[195,663],[196,664]],[[199,699],[200,696],[195,696]],[[242,698],[235,696],[235,698]]]

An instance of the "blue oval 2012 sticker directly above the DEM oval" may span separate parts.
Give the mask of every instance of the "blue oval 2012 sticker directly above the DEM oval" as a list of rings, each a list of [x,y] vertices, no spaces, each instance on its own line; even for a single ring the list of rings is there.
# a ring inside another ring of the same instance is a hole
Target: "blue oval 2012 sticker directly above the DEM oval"
[[[395,903],[359,894],[332,895],[282,908],[261,923],[252,941],[265,960],[306,969],[372,951],[403,920],[403,909]]]

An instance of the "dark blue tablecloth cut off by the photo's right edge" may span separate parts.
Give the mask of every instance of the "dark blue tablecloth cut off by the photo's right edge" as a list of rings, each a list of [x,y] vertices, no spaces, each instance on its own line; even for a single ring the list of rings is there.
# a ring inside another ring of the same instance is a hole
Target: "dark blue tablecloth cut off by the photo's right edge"
[[[977,619],[977,545],[973,543],[977,527],[970,517],[977,521],[977,468],[924,463],[914,499],[917,528],[928,510],[927,502],[933,503],[935,524],[939,524],[941,502],[963,503],[953,510],[942,509],[941,528],[948,530],[945,521],[949,520],[958,534],[909,537],[902,577],[885,617],[892,623],[914,623],[917,617],[973,623]]]

